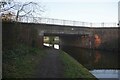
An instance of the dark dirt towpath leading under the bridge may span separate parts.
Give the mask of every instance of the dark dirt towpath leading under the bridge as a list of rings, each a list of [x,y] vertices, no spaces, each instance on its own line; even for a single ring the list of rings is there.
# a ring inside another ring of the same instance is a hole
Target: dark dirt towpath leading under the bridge
[[[62,78],[63,64],[59,58],[59,50],[46,49],[48,54],[39,64],[35,78]]]

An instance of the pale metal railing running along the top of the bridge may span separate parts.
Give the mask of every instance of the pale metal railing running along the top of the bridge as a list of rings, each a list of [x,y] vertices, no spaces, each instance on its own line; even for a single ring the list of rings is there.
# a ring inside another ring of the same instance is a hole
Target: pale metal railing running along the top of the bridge
[[[66,26],[77,26],[77,27],[118,27],[117,23],[89,23],[72,20],[61,20],[53,18],[43,17],[29,17],[23,16],[18,18],[18,22],[26,23],[44,23],[44,24],[55,24],[55,25],[66,25]]]

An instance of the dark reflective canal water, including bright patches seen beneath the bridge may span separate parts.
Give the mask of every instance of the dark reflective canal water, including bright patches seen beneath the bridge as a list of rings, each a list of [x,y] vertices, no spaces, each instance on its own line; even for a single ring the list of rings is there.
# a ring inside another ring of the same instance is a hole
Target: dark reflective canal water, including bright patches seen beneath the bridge
[[[51,46],[50,44],[44,45]],[[55,44],[54,48],[59,49],[59,45]],[[118,53],[69,46],[64,47],[63,50],[86,67],[99,80],[120,80]]]

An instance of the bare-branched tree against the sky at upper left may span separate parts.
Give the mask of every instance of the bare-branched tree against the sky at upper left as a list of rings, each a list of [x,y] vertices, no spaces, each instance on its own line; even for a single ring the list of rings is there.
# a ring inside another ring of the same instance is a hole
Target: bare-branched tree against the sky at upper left
[[[14,12],[15,21],[18,21],[19,17],[39,17],[44,12],[44,8],[36,2],[14,2],[14,0],[2,0],[0,1],[0,14],[6,14]]]

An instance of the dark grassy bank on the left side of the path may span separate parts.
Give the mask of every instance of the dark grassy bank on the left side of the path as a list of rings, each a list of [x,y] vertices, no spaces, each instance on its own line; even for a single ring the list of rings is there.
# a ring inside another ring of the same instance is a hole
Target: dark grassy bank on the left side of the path
[[[31,78],[44,50],[20,44],[3,51],[3,78]]]

